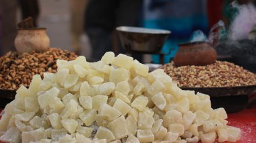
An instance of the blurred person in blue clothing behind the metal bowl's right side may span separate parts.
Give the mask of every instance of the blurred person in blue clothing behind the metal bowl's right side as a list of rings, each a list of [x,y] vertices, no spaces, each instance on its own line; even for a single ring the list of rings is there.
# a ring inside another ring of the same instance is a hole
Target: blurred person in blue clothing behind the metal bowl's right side
[[[172,33],[162,48],[164,63],[170,62],[179,49],[178,44],[189,42],[195,30],[204,34],[209,31],[207,21],[206,0],[148,0],[143,3],[146,28],[170,30]],[[153,55],[152,60],[159,63],[159,55]]]

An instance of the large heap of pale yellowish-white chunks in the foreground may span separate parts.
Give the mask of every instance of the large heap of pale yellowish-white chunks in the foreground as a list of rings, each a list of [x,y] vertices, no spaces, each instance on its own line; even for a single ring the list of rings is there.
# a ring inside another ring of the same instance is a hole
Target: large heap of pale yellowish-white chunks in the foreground
[[[57,73],[35,75],[20,87],[0,121],[2,142],[235,142],[210,97],[183,91],[163,70],[148,73],[137,60],[106,52],[57,60]]]

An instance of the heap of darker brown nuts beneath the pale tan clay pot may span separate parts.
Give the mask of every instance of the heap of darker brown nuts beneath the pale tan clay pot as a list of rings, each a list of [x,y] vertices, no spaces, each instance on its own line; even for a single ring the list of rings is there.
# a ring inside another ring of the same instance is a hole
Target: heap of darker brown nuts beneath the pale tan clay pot
[[[73,52],[50,48],[46,52],[18,53],[8,52],[0,58],[0,89],[18,89],[21,85],[29,87],[32,76],[44,72],[57,72],[57,59],[74,60]]]

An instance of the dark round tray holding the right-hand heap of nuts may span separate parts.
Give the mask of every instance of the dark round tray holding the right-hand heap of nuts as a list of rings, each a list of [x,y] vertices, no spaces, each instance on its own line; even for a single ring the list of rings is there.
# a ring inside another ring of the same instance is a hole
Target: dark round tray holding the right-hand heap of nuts
[[[245,109],[249,95],[256,93],[256,85],[239,87],[181,87],[183,90],[210,95],[212,107],[224,107],[226,112],[234,113]]]

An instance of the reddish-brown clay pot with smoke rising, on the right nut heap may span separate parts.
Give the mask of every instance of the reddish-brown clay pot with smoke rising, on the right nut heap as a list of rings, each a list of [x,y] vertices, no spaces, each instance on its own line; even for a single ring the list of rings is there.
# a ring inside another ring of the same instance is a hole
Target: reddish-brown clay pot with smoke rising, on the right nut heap
[[[179,50],[174,56],[176,66],[204,66],[216,62],[217,54],[207,42],[191,42],[179,44]]]

